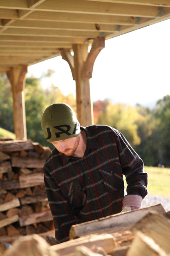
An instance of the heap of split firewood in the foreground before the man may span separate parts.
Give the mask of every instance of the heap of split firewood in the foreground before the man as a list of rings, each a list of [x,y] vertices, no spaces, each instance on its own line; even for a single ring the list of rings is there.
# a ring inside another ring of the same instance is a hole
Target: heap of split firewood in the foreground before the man
[[[169,256],[170,219],[160,204],[72,226],[70,240],[50,245],[40,235],[15,241],[4,256]]]

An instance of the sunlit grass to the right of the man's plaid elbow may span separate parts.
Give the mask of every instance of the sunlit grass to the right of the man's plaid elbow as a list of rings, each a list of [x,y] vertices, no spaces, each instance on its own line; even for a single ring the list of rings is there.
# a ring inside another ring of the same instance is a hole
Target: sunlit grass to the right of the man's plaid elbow
[[[147,167],[148,194],[170,198],[170,168]]]

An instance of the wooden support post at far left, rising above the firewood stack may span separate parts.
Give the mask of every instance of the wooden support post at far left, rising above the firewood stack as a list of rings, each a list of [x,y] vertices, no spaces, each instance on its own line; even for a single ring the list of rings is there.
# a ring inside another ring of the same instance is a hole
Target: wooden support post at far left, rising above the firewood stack
[[[26,116],[25,116],[25,75],[27,65],[13,66],[7,72],[7,76],[12,85],[13,92],[13,119],[16,139],[27,140]]]

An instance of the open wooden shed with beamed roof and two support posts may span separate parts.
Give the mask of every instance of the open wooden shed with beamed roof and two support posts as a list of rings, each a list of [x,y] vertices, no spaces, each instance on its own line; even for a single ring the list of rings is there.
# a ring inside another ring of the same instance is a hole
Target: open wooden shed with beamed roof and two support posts
[[[0,0],[0,73],[12,85],[16,139],[27,139],[28,66],[61,55],[76,81],[78,120],[90,125],[89,79],[105,40],[169,18],[170,0]]]

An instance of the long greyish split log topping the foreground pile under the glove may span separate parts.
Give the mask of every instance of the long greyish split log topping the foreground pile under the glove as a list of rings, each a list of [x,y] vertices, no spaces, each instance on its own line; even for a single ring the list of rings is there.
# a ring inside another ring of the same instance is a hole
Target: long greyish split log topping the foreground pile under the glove
[[[73,225],[69,232],[69,238],[70,239],[79,238],[83,235],[86,235],[87,233],[92,233],[93,231],[98,231],[101,229],[108,229],[108,228],[110,229],[114,227],[132,225],[138,222],[150,210],[154,210],[160,215],[163,215],[166,213],[162,204],[159,203],[155,206],[132,210],[124,213],[118,213],[115,215],[110,215],[108,217],[96,219],[94,221]]]

